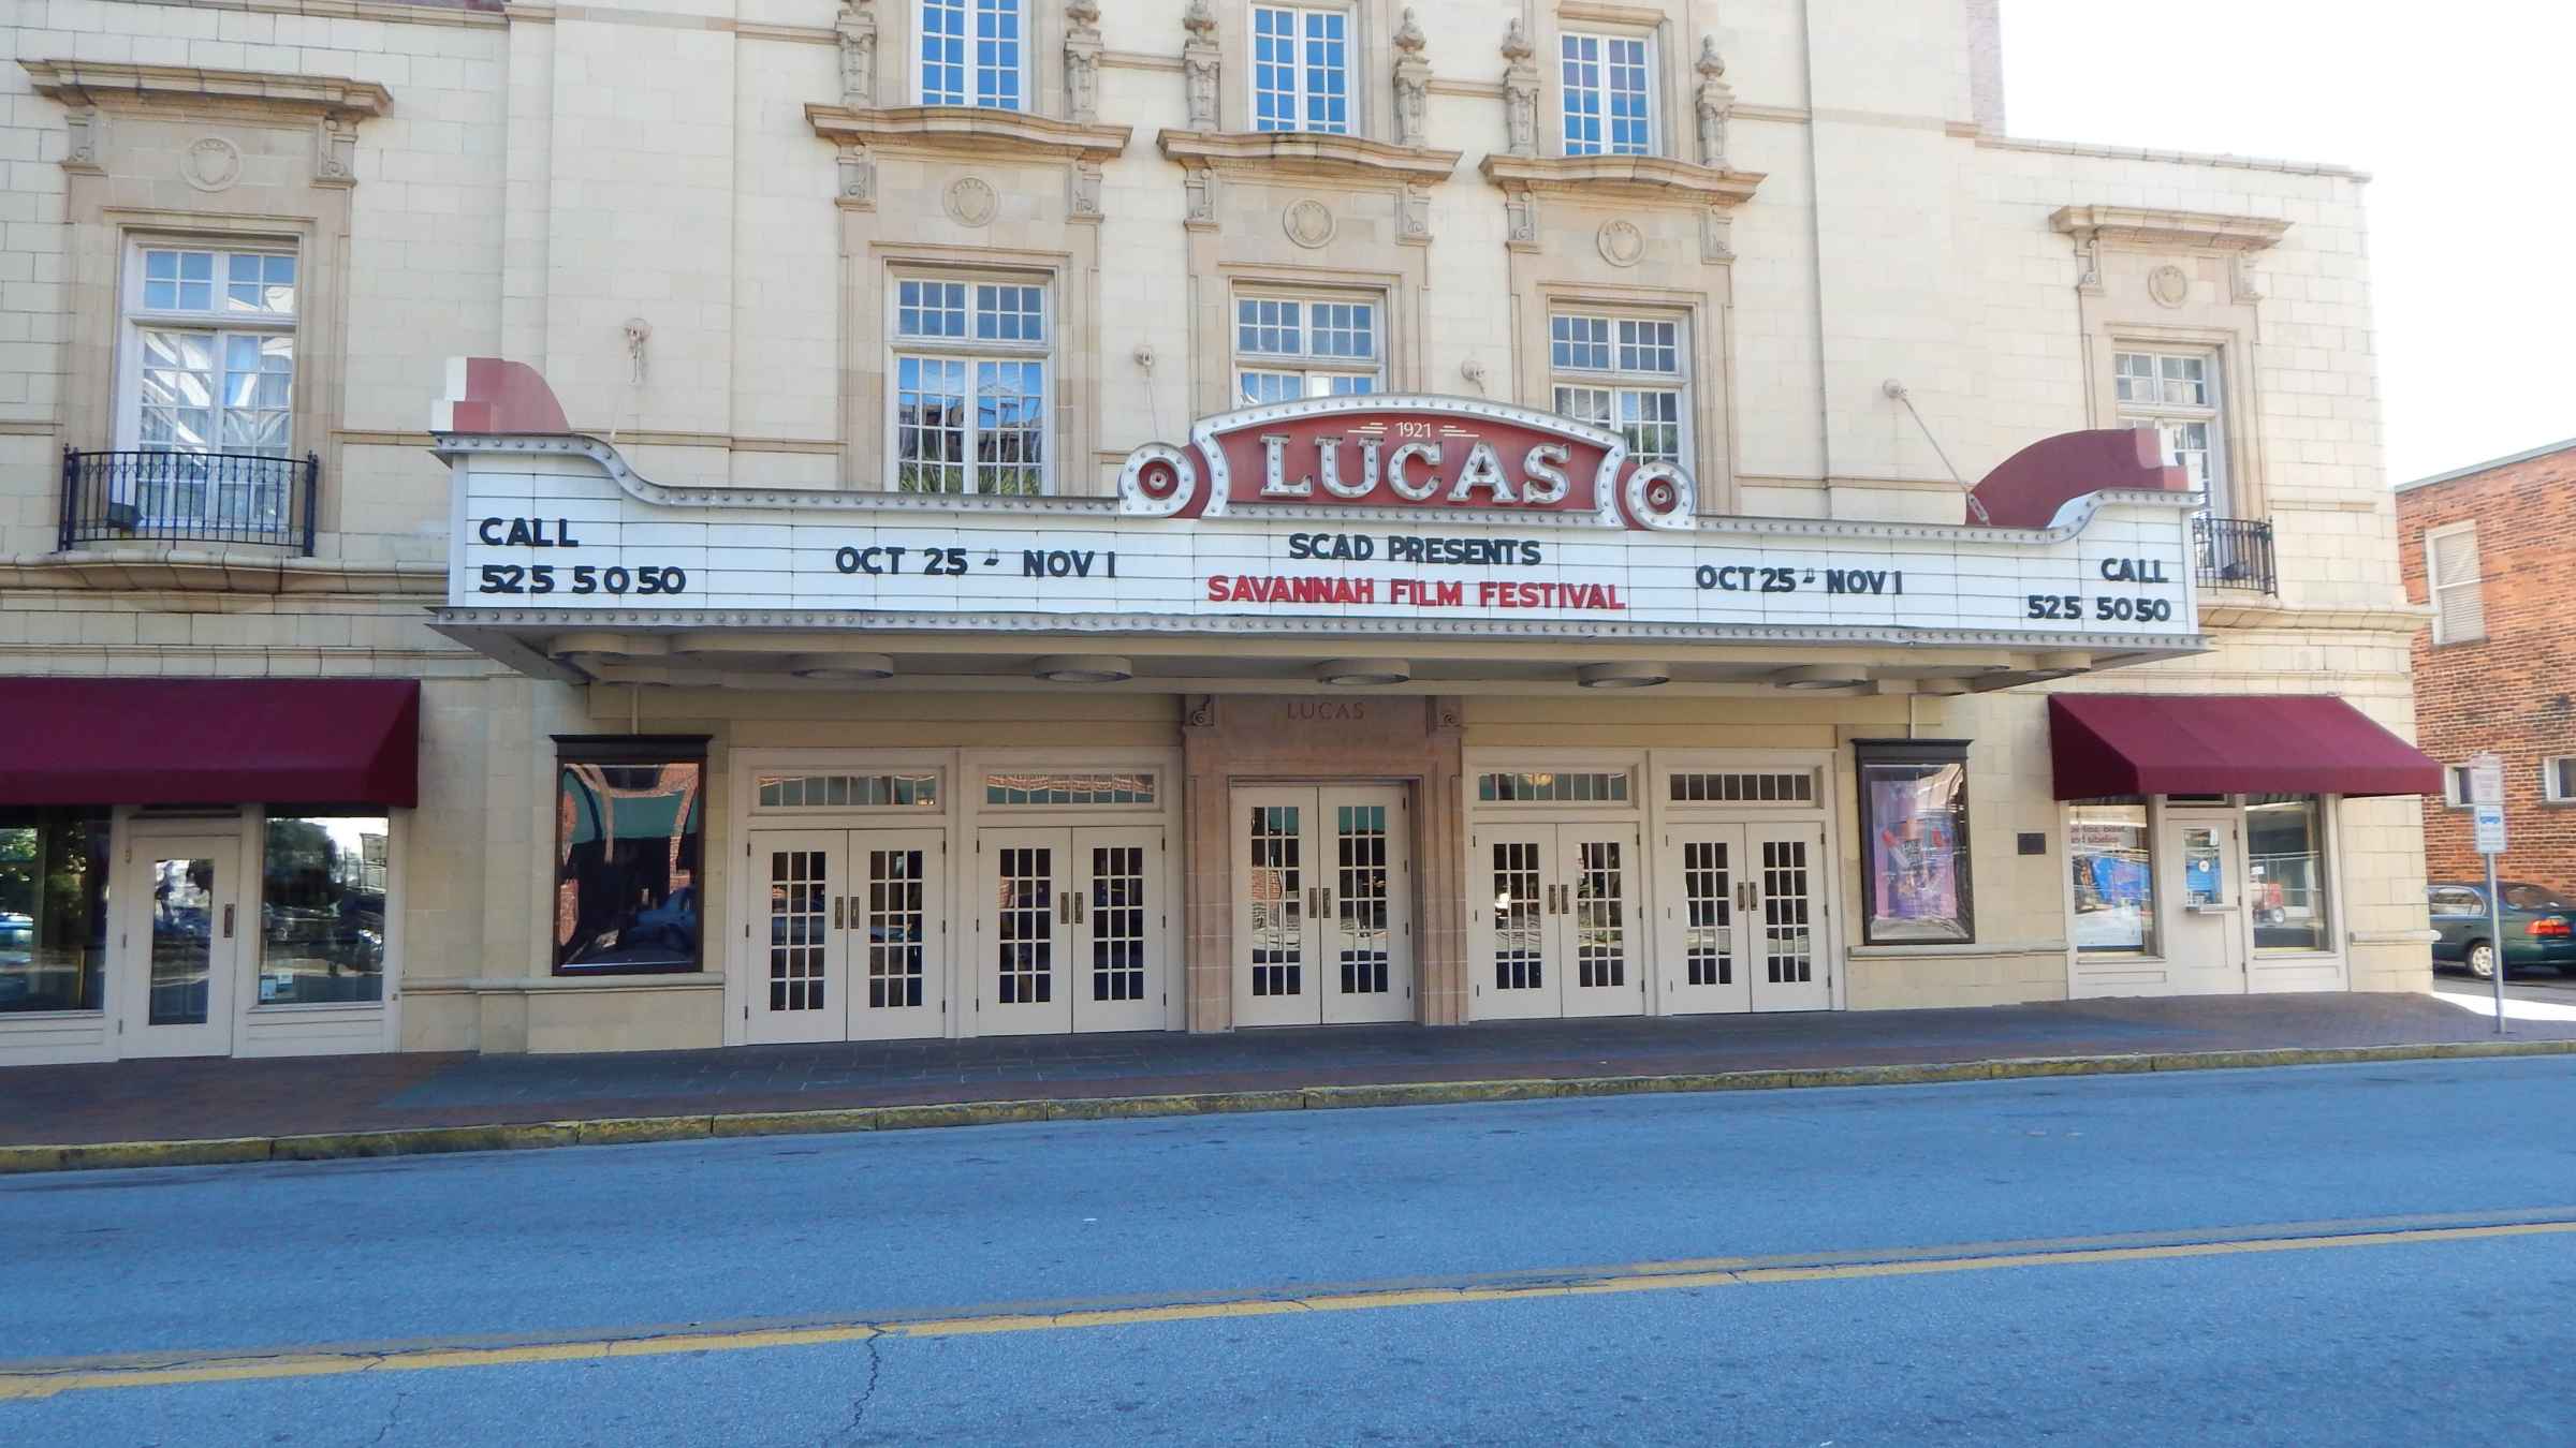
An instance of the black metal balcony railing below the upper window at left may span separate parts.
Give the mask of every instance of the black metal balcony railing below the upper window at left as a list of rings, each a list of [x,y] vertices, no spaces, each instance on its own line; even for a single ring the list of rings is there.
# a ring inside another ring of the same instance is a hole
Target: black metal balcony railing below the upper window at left
[[[270,544],[314,551],[322,459],[62,451],[62,549]]]

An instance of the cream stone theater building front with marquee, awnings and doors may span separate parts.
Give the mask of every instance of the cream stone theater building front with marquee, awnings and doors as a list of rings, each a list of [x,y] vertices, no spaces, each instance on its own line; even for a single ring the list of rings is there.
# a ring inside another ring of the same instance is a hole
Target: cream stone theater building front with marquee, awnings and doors
[[[13,31],[0,1064],[2429,979],[2354,173],[1958,0],[361,10]]]

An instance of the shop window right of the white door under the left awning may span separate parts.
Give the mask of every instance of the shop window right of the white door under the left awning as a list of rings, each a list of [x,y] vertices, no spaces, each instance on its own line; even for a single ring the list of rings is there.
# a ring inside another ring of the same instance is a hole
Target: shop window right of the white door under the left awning
[[[268,817],[260,866],[260,1005],[384,1000],[381,814]]]

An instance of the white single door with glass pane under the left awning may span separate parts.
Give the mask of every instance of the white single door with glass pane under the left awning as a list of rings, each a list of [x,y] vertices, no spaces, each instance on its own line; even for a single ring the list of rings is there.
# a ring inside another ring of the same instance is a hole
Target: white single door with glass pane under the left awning
[[[232,1054],[247,925],[240,858],[240,835],[137,835],[108,987],[124,1056]]]

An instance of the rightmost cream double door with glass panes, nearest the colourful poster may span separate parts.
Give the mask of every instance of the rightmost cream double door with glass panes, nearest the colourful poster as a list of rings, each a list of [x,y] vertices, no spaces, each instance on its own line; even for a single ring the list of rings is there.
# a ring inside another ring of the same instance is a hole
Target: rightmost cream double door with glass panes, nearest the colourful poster
[[[1662,1013],[1832,1010],[1824,824],[1690,824],[1664,835]]]

